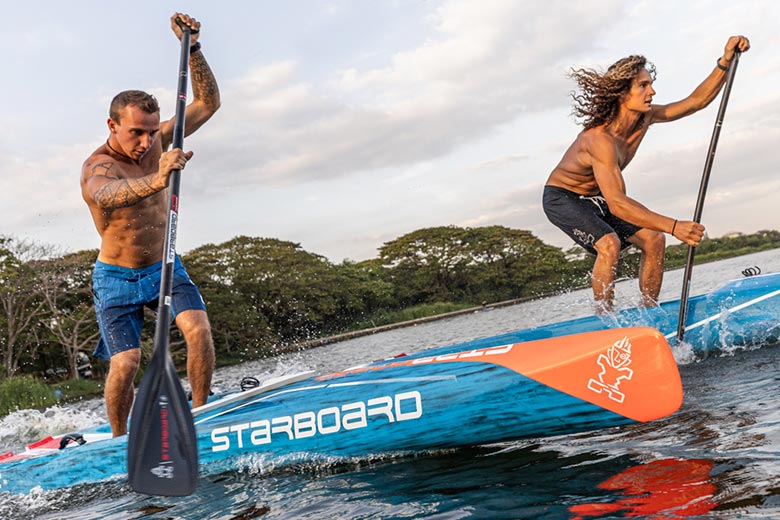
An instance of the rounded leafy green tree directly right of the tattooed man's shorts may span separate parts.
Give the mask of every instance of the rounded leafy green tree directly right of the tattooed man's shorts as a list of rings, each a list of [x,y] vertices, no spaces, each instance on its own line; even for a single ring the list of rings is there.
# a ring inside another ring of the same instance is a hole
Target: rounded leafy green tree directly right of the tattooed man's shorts
[[[269,351],[345,326],[364,305],[360,273],[300,244],[236,237],[186,255],[209,307],[215,339],[233,352]]]

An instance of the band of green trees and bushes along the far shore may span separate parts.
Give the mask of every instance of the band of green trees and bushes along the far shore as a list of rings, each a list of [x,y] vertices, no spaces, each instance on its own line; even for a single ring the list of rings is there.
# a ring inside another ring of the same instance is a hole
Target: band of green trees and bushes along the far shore
[[[778,231],[706,238],[696,263],[775,248]],[[684,244],[667,247],[666,270],[683,267],[686,255]],[[0,417],[102,393],[107,363],[87,357],[98,338],[96,257],[0,236]],[[576,246],[563,251],[502,226],[418,230],[363,262],[333,264],[299,244],[252,237],[182,257],[209,309],[218,366],[582,289],[593,265]],[[638,251],[627,250],[619,278],[635,277],[638,265]],[[149,311],[146,360],[153,322]],[[171,354],[183,369],[186,347],[175,330]]]

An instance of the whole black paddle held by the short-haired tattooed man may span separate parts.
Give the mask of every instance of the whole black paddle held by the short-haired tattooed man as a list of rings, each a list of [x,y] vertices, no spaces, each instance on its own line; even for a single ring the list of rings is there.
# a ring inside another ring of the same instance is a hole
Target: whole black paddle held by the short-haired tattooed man
[[[180,21],[179,26],[182,29],[182,37],[173,148],[184,146],[184,110],[187,103],[187,67],[190,57],[190,28]],[[130,487],[148,495],[190,495],[198,483],[195,425],[187,396],[168,350],[180,177],[180,170],[174,170],[170,176],[154,352],[138,388],[127,443]]]

